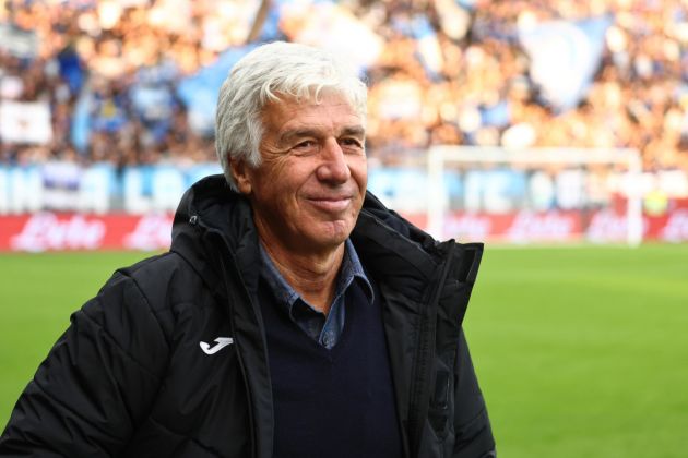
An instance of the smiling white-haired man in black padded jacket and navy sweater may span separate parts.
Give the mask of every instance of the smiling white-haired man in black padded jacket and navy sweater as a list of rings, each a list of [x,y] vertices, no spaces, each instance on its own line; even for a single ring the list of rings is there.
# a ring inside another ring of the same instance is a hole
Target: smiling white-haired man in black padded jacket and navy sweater
[[[494,457],[461,322],[479,244],[366,193],[366,88],[274,43],[217,107],[224,177],[121,269],[22,394],[0,456]]]

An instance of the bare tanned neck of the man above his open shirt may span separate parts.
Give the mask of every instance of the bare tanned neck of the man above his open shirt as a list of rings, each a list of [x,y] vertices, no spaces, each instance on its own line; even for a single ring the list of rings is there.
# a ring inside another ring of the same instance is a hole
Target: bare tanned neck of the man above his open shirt
[[[280,274],[313,309],[330,312],[336,276],[344,257],[344,243],[318,253],[293,253],[283,246],[261,243]]]

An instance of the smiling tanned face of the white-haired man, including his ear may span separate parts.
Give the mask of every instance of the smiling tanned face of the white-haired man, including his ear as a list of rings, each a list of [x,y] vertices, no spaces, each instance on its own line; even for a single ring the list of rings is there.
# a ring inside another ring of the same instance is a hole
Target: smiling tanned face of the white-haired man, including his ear
[[[349,236],[367,183],[363,120],[339,95],[263,109],[262,162],[234,164],[264,244],[292,253],[324,253]],[[276,244],[276,246],[275,246]]]

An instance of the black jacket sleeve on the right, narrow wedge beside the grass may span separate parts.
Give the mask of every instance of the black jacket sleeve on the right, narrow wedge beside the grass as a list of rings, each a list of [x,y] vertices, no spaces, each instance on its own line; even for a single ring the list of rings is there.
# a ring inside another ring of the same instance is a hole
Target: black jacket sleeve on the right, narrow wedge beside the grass
[[[494,458],[495,438],[463,330],[456,358],[454,458]]]

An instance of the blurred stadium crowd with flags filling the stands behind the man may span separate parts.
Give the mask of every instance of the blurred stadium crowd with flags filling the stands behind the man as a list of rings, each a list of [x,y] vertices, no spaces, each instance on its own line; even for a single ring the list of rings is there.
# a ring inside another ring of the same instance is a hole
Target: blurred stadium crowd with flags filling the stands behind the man
[[[687,0],[9,0],[0,165],[214,160],[209,72],[273,39],[360,67],[383,162],[633,147],[645,170],[688,170]]]

